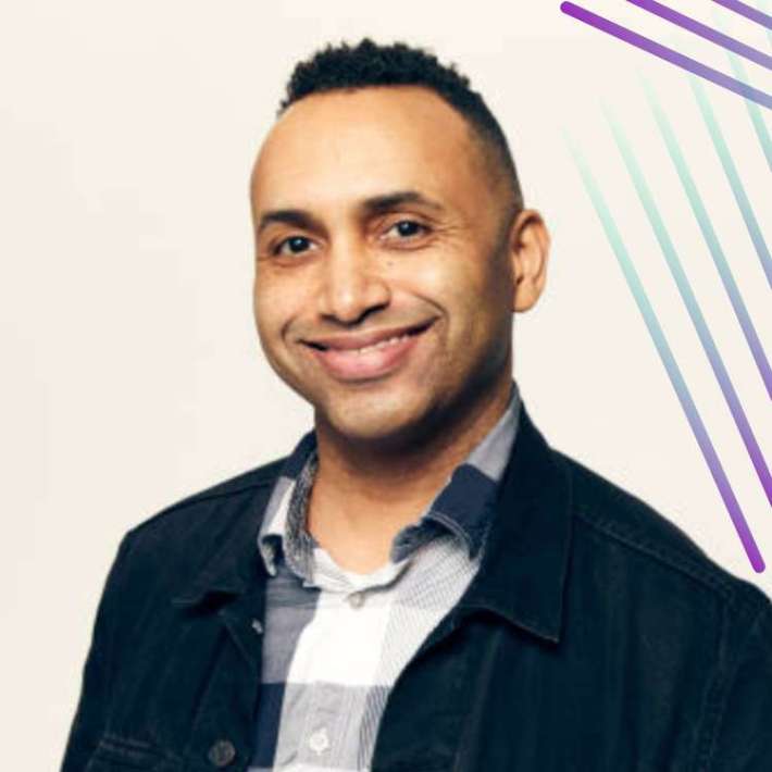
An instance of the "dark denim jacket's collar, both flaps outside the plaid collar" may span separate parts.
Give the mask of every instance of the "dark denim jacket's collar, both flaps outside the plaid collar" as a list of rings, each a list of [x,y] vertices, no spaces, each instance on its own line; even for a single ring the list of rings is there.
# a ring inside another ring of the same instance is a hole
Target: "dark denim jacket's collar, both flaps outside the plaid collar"
[[[252,490],[247,515],[233,519],[223,544],[185,580],[173,603],[192,607],[213,594],[250,598],[254,592],[264,598],[264,565],[254,559],[254,538],[272,494],[281,493],[279,469],[279,462],[270,464],[257,481],[237,488]],[[484,610],[545,640],[560,640],[573,541],[572,487],[570,462],[549,447],[523,404],[480,569],[456,613]]]

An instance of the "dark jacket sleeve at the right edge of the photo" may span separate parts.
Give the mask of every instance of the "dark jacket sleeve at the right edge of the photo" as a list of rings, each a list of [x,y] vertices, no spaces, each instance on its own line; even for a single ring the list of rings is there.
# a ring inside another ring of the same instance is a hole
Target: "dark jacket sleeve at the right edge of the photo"
[[[772,770],[772,603],[745,638],[718,725],[711,772]]]

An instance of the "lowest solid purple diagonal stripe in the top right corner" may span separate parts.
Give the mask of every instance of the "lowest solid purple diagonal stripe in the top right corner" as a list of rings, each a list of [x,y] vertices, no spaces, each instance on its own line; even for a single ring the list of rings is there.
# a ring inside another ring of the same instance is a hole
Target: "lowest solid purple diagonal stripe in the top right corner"
[[[615,22],[611,22],[603,16],[599,16],[592,11],[587,11],[575,3],[563,2],[560,4],[560,10],[566,15],[577,18],[580,22],[588,24],[590,27],[595,27],[596,29],[600,29],[608,35],[612,35],[613,37],[619,38],[631,46],[635,46],[647,53],[659,57],[660,59],[663,59],[671,64],[675,64],[683,70],[687,70],[688,72],[694,73],[706,80],[710,80],[717,86],[734,91],[740,97],[750,99],[751,101],[758,102],[759,104],[772,110],[772,95],[769,95],[765,91],[761,91],[758,88],[748,86],[746,83],[742,83],[740,80],[736,80],[729,75],[724,75],[724,73],[713,70],[713,67],[709,67],[707,64],[701,64],[700,62],[690,59],[683,53],[678,53],[678,51],[674,51],[672,48],[655,42],[650,38],[638,35],[638,33],[634,33],[632,29],[627,29],[627,27],[623,27]]]

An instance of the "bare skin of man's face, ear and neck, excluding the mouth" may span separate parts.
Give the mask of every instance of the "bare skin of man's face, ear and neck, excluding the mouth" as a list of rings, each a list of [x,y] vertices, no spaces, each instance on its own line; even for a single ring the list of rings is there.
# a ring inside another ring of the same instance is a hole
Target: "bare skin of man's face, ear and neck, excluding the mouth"
[[[307,526],[344,568],[383,564],[506,408],[512,313],[537,301],[549,251],[539,214],[513,217],[509,200],[465,120],[422,87],[307,97],[260,150],[256,324],[314,408]],[[308,345],[428,323],[368,379],[336,377]]]

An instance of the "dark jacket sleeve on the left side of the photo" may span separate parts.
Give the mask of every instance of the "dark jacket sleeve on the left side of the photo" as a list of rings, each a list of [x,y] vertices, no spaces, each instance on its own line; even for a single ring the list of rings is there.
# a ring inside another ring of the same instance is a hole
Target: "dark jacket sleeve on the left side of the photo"
[[[111,650],[119,583],[128,552],[128,534],[121,541],[97,608],[91,643],[83,668],[80,697],[70,729],[61,772],[84,772],[102,735],[110,695]]]

